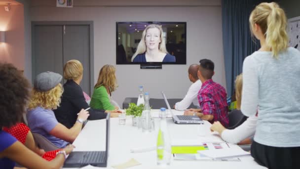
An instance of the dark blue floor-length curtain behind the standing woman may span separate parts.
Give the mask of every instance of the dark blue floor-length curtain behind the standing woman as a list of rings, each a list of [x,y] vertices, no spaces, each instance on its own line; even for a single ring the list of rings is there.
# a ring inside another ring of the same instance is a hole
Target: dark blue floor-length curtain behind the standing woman
[[[249,16],[256,5],[267,0],[222,0],[223,48],[227,95],[234,91],[234,80],[242,73],[245,57],[260,48],[251,36]]]

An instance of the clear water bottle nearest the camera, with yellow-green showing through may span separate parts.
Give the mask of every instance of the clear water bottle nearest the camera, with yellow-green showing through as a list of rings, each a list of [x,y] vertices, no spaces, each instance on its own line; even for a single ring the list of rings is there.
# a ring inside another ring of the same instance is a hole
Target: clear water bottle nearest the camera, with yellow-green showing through
[[[170,165],[171,161],[171,140],[166,122],[166,109],[160,108],[160,125],[157,134],[157,165],[167,166]]]

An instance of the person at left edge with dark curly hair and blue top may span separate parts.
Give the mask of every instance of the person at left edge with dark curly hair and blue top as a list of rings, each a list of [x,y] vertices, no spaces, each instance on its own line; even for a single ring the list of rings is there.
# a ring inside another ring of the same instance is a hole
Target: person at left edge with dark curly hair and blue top
[[[30,98],[30,84],[12,64],[0,63],[0,168],[18,169],[15,163],[28,169],[60,169],[72,152],[74,146],[67,146],[64,151],[55,154],[55,159],[46,161],[28,149],[15,137],[3,130],[21,122],[25,107]]]

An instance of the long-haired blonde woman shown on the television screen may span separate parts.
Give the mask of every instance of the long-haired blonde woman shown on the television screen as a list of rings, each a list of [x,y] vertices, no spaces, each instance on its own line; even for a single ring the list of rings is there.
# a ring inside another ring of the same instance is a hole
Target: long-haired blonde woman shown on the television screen
[[[143,31],[137,51],[132,62],[176,62],[175,56],[166,50],[163,31],[159,25],[148,25]]]

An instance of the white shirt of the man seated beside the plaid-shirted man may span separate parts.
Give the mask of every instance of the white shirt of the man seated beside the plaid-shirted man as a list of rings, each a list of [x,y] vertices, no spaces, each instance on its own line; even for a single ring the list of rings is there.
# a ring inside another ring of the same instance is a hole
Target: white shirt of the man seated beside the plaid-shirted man
[[[197,94],[201,88],[201,85],[202,83],[200,80],[197,80],[195,83],[191,84],[190,87],[188,88],[188,93],[185,96],[185,98],[175,104],[175,109],[184,111],[190,106],[191,103],[193,103],[195,106],[200,107]]]

